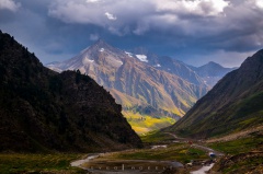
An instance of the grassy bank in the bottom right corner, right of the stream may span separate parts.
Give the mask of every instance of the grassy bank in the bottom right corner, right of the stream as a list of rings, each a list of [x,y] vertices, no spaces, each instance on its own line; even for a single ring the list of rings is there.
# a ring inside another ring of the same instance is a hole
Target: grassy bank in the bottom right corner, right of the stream
[[[254,131],[230,141],[208,143],[215,150],[224,152],[214,171],[222,174],[263,172],[263,131]]]

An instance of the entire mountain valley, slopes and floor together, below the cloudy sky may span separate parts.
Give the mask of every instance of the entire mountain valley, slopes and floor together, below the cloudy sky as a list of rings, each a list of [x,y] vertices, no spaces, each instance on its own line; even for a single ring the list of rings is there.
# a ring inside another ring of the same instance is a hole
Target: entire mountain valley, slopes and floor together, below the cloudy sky
[[[263,172],[263,50],[209,89],[222,76],[211,62],[99,40],[55,72],[10,35],[0,43],[0,173]]]

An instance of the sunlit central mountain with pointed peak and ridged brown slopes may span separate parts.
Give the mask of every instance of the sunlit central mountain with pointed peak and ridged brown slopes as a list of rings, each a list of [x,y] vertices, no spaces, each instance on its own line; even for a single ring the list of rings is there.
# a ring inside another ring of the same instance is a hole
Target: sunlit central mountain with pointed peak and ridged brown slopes
[[[151,57],[121,50],[100,39],[78,56],[47,67],[60,72],[79,69],[81,73],[89,74],[106,88],[129,114],[139,111],[141,115],[151,113],[153,117],[176,118],[207,92],[205,83],[192,83],[181,76],[158,69],[149,63],[153,60],[148,58]],[[184,69],[188,77],[196,76],[187,67]]]

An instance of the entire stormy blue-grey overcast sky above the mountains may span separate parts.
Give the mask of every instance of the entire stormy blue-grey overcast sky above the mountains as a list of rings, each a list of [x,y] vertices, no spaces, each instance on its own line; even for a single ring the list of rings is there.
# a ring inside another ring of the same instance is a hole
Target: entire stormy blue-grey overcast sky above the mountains
[[[263,48],[263,0],[0,0],[0,30],[43,63],[102,38],[186,63],[237,67]]]

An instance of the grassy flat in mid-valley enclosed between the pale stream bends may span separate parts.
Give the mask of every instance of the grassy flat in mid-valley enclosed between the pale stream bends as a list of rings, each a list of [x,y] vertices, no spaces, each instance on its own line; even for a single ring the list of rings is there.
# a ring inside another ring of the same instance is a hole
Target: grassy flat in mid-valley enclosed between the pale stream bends
[[[169,136],[171,141],[160,141],[144,149],[96,154],[94,159],[84,161],[80,167],[92,173],[163,173],[167,170],[185,171],[186,163],[195,160],[195,165],[209,161],[205,147],[196,148],[187,140],[178,140]],[[174,141],[176,141],[174,143]],[[156,144],[156,146],[155,146]],[[159,144],[159,146],[158,146]],[[165,144],[165,146],[164,146]],[[198,166],[187,167],[186,171]]]

